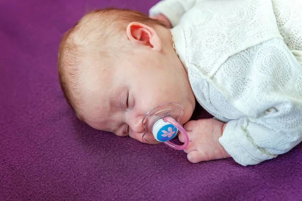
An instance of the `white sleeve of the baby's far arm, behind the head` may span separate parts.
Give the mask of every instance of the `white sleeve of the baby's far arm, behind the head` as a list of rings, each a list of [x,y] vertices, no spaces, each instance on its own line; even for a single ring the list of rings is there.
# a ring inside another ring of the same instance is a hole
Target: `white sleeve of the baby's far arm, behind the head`
[[[195,4],[195,0],[163,0],[149,10],[149,16],[154,18],[164,15],[170,21],[172,27],[175,27],[180,18]]]

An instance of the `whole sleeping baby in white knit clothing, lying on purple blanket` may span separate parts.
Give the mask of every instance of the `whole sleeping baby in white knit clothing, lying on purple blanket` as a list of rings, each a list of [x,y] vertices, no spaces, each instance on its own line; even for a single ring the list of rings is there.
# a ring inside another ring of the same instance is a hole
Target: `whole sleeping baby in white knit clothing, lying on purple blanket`
[[[179,104],[189,161],[258,164],[302,140],[301,11],[300,0],[165,0],[150,17],[97,10],[60,43],[61,88],[82,121],[141,142],[144,115]],[[213,119],[189,121],[195,98]]]

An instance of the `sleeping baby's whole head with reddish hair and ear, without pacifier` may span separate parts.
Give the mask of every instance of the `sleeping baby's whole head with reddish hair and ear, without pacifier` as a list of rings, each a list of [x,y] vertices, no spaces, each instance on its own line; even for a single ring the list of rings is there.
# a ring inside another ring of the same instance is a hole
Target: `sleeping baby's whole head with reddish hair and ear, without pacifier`
[[[195,108],[185,68],[171,32],[161,22],[129,10],[85,15],[62,38],[58,73],[75,114],[95,129],[141,141],[144,115],[163,103]]]

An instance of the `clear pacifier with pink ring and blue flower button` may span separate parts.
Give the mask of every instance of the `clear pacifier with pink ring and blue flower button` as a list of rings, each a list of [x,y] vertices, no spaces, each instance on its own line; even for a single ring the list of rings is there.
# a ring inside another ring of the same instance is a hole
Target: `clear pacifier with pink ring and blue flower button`
[[[164,142],[177,150],[185,149],[189,144],[189,137],[185,129],[179,124],[183,115],[184,109],[175,103],[165,103],[151,109],[141,122],[145,128],[142,140],[149,144]],[[185,143],[183,145],[170,142],[177,136],[178,132],[184,135]]]

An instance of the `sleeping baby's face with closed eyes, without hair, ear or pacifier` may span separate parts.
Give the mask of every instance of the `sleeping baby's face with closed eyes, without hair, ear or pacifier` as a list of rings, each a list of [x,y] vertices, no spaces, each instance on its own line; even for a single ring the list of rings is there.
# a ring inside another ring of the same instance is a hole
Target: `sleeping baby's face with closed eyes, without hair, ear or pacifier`
[[[195,97],[172,43],[166,46],[165,50],[142,46],[110,67],[95,63],[95,67],[86,70],[82,77],[86,93],[81,107],[86,123],[142,142],[142,119],[160,104],[181,105],[184,115],[180,123],[189,121]]]

